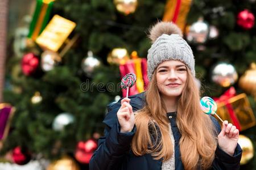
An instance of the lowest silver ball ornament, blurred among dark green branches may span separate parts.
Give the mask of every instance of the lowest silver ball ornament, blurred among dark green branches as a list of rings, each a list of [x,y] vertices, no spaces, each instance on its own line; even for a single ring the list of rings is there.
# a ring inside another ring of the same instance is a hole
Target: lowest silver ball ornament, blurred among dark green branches
[[[65,126],[72,124],[75,121],[74,116],[71,113],[60,113],[57,115],[52,123],[52,129],[61,131]]]

